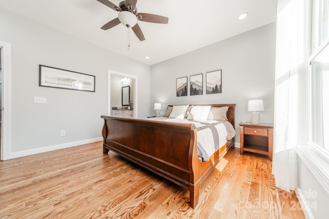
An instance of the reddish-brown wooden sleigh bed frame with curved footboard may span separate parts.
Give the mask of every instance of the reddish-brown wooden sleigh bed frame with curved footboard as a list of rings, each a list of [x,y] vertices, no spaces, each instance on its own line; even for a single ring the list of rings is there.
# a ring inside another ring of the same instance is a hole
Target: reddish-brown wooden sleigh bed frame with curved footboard
[[[234,128],[235,104],[211,106],[228,106],[227,120]],[[232,138],[225,147],[221,147],[210,156],[210,161],[200,162],[197,154],[197,132],[193,124],[105,115],[101,117],[104,119],[103,153],[106,154],[109,150],[114,151],[173,183],[189,189],[192,208],[197,205],[201,183],[227,150],[234,147],[234,138]]]

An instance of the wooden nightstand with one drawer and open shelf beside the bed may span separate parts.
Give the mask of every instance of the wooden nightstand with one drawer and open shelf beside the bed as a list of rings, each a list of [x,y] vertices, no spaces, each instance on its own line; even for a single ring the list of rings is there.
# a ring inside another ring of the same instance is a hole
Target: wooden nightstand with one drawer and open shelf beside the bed
[[[244,151],[268,155],[272,161],[273,124],[239,123],[240,154]]]

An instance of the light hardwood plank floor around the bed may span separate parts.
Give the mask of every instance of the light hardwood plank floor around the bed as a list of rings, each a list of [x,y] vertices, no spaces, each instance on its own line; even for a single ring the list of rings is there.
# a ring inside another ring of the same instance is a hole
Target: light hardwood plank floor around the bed
[[[305,218],[266,156],[229,150],[192,209],[188,190],[102,142],[0,162],[0,206],[0,218]]]

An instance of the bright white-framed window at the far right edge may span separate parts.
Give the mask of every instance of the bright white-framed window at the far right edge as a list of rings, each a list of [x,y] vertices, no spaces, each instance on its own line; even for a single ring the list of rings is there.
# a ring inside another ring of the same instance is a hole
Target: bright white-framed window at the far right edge
[[[313,0],[309,142],[329,151],[329,0]]]

